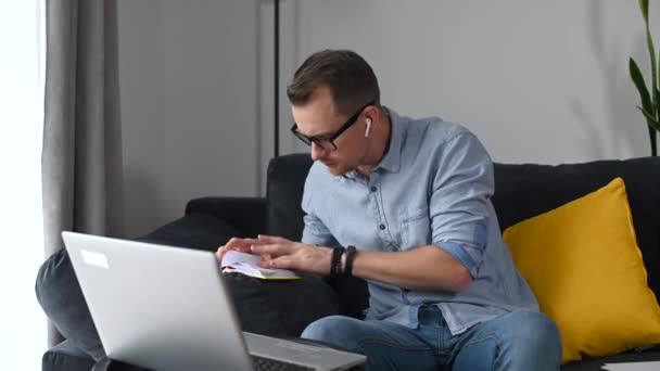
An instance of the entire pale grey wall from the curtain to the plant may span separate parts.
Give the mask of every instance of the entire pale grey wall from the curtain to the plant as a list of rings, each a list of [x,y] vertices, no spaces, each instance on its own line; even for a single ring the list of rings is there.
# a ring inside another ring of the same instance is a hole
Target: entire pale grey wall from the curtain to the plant
[[[271,12],[269,0],[119,1],[129,235],[193,196],[263,193]],[[649,153],[627,75],[629,56],[649,64],[637,1],[281,0],[281,153],[305,150],[288,133],[285,85],[325,48],[358,51],[383,103],[465,124],[498,162]]]

